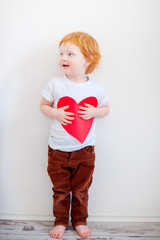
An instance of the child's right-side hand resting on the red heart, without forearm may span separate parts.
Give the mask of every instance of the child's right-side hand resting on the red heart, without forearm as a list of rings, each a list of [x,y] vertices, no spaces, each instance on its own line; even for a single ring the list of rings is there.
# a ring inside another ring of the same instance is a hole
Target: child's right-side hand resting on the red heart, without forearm
[[[84,103],[85,107],[79,107],[82,111],[78,111],[80,114],[79,117],[83,118],[84,120],[88,120],[95,116],[96,108],[88,103]]]

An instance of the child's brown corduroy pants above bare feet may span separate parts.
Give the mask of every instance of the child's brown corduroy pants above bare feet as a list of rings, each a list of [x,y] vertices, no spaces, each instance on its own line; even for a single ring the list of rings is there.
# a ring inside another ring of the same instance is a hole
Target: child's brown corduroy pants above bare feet
[[[94,146],[73,152],[48,147],[47,170],[53,183],[55,225],[68,226],[70,202],[72,225],[75,227],[87,224],[88,189],[92,183],[94,165]]]

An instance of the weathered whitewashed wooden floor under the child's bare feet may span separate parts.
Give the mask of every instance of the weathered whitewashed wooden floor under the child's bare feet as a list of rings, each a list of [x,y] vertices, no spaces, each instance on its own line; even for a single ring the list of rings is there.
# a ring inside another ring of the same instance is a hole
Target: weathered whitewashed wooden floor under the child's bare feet
[[[95,223],[88,226],[92,236],[85,239],[99,240],[160,240],[160,223]],[[49,221],[0,220],[0,240],[51,240]],[[63,240],[82,240],[70,226]]]

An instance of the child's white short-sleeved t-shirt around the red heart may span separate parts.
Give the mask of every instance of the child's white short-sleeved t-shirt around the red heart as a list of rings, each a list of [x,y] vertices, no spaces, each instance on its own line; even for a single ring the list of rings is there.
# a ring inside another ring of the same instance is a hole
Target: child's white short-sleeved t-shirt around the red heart
[[[66,76],[63,78],[51,78],[42,91],[42,96],[49,102],[53,102],[53,107],[57,108],[60,98],[69,96],[77,103],[83,99],[94,96],[98,100],[98,106],[107,104],[108,98],[105,90],[91,78],[87,82],[75,83]],[[50,135],[48,144],[52,149],[58,149],[65,152],[79,150],[86,146],[95,145],[95,127],[96,119],[93,120],[91,129],[83,143],[71,136],[56,119],[51,119]]]

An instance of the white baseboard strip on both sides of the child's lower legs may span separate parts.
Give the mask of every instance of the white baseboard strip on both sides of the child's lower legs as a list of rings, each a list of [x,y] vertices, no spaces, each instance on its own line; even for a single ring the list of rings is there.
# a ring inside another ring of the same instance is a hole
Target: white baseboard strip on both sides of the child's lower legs
[[[26,221],[54,221],[50,213],[28,212],[28,213],[0,213],[0,219],[9,220],[26,220]],[[138,214],[107,214],[107,215],[90,215],[89,222],[160,222],[158,215],[138,215]]]

